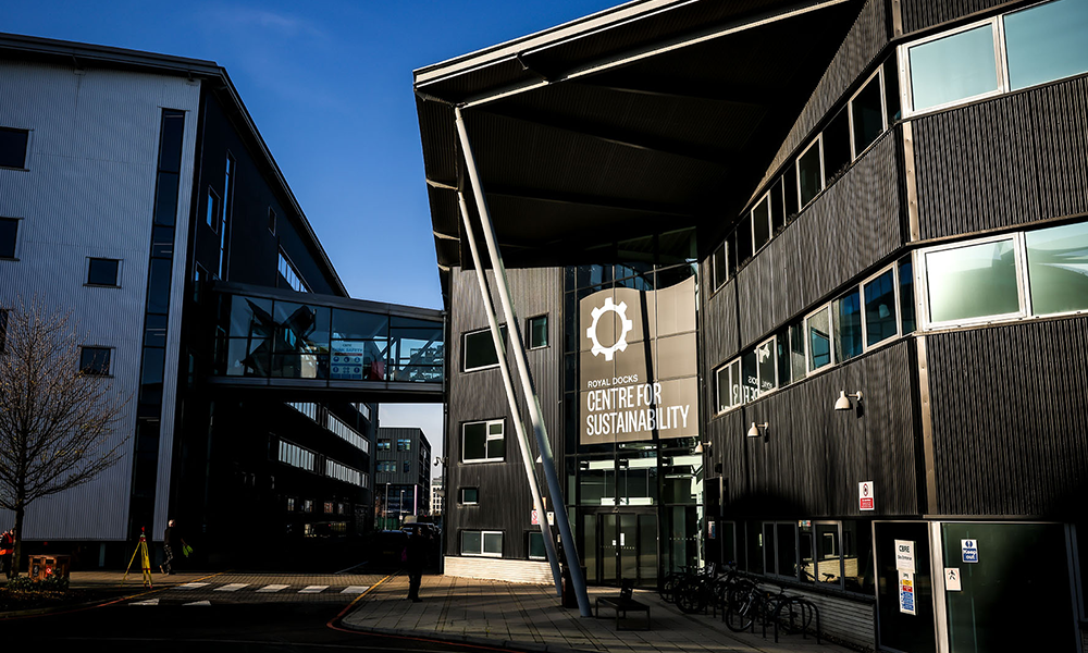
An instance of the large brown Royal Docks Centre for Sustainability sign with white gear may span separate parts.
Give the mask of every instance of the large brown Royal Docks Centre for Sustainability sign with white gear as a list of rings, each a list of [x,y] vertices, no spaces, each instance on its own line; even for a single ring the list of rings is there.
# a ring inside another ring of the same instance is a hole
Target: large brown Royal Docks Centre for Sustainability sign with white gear
[[[695,279],[579,303],[581,444],[698,435]]]

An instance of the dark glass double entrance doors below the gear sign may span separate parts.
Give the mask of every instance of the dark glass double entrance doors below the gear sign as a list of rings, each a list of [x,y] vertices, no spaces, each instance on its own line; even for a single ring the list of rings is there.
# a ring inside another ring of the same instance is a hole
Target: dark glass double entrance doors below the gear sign
[[[588,581],[657,587],[656,513],[583,514],[582,545]]]

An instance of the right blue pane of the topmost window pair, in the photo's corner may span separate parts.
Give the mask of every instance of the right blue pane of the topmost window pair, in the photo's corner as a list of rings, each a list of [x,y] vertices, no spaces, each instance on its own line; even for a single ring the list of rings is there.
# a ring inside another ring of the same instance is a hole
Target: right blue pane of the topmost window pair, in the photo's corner
[[[1009,86],[1013,90],[1088,71],[1088,4],[1048,2],[1004,16]]]

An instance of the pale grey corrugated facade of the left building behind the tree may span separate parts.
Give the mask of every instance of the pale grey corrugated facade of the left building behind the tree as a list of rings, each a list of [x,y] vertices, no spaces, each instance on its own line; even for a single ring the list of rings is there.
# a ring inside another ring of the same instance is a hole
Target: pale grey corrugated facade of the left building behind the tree
[[[49,309],[72,310],[83,343],[113,348],[113,383],[134,397],[116,439],[129,438],[135,424],[162,108],[188,111],[182,187],[189,188],[199,96],[198,83],[173,77],[0,63],[0,125],[33,130],[28,170],[0,170],[0,215],[22,219],[18,260],[0,261],[0,305],[36,295]],[[183,192],[180,222],[188,204]],[[177,230],[175,251],[185,250],[185,232]],[[121,259],[121,287],[85,286],[88,257]],[[184,264],[185,257],[175,257],[172,318],[181,316]],[[165,397],[173,397],[177,377],[177,325],[172,319]],[[173,409],[163,402],[164,443]],[[134,444],[95,481],[32,504],[25,537],[124,540]],[[169,444],[163,449],[159,486],[168,488]],[[157,497],[163,514],[165,494]],[[11,519],[0,513],[0,522]]]

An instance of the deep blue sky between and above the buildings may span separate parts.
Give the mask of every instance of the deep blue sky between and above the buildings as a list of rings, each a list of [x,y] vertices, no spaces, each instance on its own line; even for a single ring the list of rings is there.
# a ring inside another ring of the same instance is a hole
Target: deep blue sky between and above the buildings
[[[619,0],[0,0],[0,32],[226,67],[348,292],[441,308],[412,71]],[[441,406],[384,405],[442,449]]]

